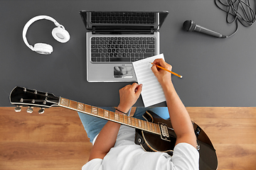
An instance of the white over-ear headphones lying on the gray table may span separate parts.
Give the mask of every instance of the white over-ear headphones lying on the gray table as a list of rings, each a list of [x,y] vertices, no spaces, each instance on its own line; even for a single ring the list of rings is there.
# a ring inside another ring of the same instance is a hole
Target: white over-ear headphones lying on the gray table
[[[36,43],[33,47],[32,45],[28,44],[28,40],[26,39],[26,32],[28,30],[28,27],[31,26],[31,24],[34,23],[35,21],[38,21],[41,19],[53,21],[55,26],[57,26],[56,28],[53,28],[52,35],[53,35],[53,38],[55,38],[55,40],[58,40],[58,42],[63,42],[63,43],[68,42],[68,40],[70,40],[70,35],[68,31],[65,30],[64,26],[60,25],[60,23],[55,21],[55,19],[51,18],[50,16],[35,16],[34,18],[31,18],[23,28],[23,31],[22,31],[23,41],[32,51],[38,52],[39,54],[42,54],[42,55],[50,55],[50,53],[53,52],[53,47],[51,45],[48,45],[45,43]]]

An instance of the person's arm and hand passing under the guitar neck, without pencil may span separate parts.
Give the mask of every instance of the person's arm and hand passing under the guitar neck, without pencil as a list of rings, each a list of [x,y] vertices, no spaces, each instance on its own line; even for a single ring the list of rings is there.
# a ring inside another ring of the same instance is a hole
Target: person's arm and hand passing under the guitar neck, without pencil
[[[127,113],[129,108],[132,108],[134,103],[136,103],[141,92],[142,85],[134,83],[132,85],[124,86],[124,88],[119,90],[119,106],[117,106],[117,109]],[[114,123],[112,121],[106,123],[100,131],[95,144],[92,146],[89,161],[95,158],[103,159],[106,154],[110,152],[110,149],[114,147],[117,140],[119,128],[119,123]]]

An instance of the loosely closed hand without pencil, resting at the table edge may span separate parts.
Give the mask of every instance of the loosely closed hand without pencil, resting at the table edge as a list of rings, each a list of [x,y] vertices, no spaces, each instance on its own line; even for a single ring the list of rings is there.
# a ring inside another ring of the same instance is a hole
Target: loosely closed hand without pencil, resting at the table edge
[[[117,109],[124,113],[127,113],[130,108],[136,103],[139,98],[139,95],[142,92],[142,84],[129,84],[124,86],[122,89],[119,89],[119,106]]]

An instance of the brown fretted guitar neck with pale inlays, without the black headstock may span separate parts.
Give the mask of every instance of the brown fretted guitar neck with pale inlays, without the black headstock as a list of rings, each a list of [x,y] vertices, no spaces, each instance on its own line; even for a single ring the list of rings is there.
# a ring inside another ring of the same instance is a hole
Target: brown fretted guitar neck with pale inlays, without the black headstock
[[[120,123],[122,125],[127,125],[132,128],[137,128],[147,132],[152,132],[158,135],[161,134],[159,125],[156,123],[150,123],[148,121],[133,118],[131,116],[123,115],[121,113],[107,111],[105,109],[97,108],[95,106],[90,106],[77,101],[71,101],[67,98],[60,97],[58,106],[69,108],[73,111],[78,111],[81,113],[85,113],[87,115],[93,115],[97,118],[110,120],[112,122]]]

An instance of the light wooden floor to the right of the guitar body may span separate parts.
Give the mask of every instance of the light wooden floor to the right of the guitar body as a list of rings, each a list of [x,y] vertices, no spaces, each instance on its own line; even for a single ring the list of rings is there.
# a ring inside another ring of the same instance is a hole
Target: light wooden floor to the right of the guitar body
[[[218,170],[255,169],[256,108],[186,108],[216,149]]]

